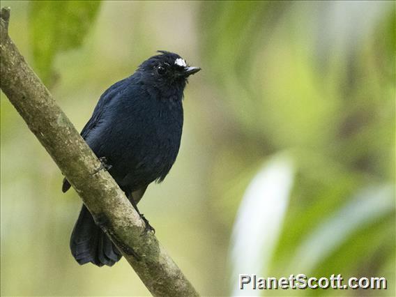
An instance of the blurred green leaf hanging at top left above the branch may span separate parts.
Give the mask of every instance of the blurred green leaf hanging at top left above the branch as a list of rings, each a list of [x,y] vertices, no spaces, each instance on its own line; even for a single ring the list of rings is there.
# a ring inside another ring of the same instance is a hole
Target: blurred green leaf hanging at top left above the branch
[[[82,45],[100,8],[100,1],[31,1],[30,40],[35,70],[45,84],[54,82],[58,52]]]

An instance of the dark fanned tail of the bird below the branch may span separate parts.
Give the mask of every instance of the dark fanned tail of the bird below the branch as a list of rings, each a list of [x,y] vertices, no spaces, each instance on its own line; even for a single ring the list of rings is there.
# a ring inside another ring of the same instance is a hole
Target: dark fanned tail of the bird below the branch
[[[113,266],[122,257],[84,205],[70,238],[70,250],[80,265],[91,262],[96,266]]]

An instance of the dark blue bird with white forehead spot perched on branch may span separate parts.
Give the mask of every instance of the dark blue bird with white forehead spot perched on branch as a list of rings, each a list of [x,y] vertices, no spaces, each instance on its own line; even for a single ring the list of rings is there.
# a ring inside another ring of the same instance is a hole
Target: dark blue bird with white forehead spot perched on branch
[[[154,229],[137,204],[148,185],[162,182],[174,165],[183,130],[183,91],[188,77],[199,70],[178,54],[158,51],[100,96],[80,133],[148,231]],[[70,186],[64,178],[62,191]],[[80,265],[113,266],[122,257],[84,204],[70,236],[70,250]]]

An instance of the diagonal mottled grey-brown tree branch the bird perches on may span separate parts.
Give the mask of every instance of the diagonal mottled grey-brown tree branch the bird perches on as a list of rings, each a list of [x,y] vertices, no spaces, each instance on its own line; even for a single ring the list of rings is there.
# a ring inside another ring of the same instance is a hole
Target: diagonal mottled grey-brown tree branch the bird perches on
[[[154,296],[198,296],[144,223],[112,176],[94,174],[100,162],[8,36],[10,8],[1,8],[0,75],[6,94],[50,153],[100,227]],[[142,236],[142,234],[144,234]]]

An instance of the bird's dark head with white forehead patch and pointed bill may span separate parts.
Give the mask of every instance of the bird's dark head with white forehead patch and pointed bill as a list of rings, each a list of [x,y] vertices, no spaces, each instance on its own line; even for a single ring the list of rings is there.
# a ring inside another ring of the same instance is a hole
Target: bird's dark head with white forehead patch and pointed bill
[[[201,68],[188,66],[181,56],[173,52],[158,51],[139,66],[145,84],[160,89],[177,89],[183,92],[187,79]]]

